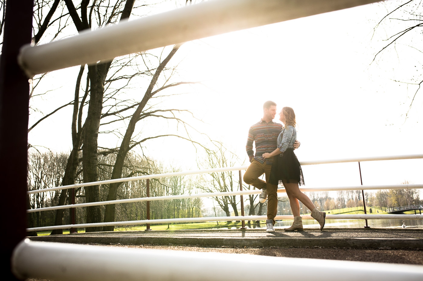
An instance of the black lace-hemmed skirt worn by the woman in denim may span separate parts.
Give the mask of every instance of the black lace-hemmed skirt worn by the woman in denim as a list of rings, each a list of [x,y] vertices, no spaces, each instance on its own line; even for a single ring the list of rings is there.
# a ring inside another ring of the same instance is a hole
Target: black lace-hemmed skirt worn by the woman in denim
[[[301,166],[297,156],[294,154],[294,149],[288,148],[283,153],[283,156],[276,155],[273,157],[269,181],[271,184],[282,184],[283,181],[290,183],[291,181],[304,185]]]

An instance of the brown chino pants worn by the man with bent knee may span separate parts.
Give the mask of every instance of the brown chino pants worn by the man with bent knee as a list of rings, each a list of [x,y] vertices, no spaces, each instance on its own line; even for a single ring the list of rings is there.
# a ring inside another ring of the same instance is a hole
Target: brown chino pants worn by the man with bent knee
[[[272,165],[267,165],[266,162],[261,164],[253,159],[250,166],[245,171],[244,182],[258,189],[267,188],[267,219],[271,219],[273,224],[275,224],[275,216],[277,213],[277,185],[266,183],[269,182],[271,169]],[[263,174],[266,176],[266,181],[259,178]]]

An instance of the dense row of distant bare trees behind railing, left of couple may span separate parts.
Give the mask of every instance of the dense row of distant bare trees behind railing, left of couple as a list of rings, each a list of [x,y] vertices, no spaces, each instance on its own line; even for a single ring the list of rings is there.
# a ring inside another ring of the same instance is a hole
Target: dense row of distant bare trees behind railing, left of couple
[[[113,170],[115,154],[99,154],[99,180],[110,179]],[[29,190],[45,189],[60,186],[66,168],[66,161],[69,154],[53,152],[31,152],[28,154],[28,188]],[[82,183],[82,164],[78,166],[75,184]],[[128,154],[125,159],[124,173],[128,176],[139,176],[157,173],[170,173],[179,170],[170,169],[163,165],[155,165],[154,162],[140,158],[135,154]],[[169,177],[150,180],[150,196],[166,195],[189,195],[196,192],[196,179],[190,177]],[[76,189],[76,203],[86,203],[86,190],[91,186]],[[100,185],[100,201],[107,199],[108,184]],[[30,208],[44,208],[57,206],[60,191],[35,193],[29,196]],[[146,197],[146,180],[129,181],[119,185],[117,199]],[[66,197],[64,205],[70,204],[70,197]],[[160,200],[150,202],[151,219],[174,219],[180,217],[201,217],[203,207],[201,198]],[[146,202],[116,204],[116,221],[132,221],[146,219]],[[104,216],[104,206],[99,206]],[[33,212],[28,215],[32,217],[34,227],[55,225],[55,211]],[[87,222],[86,208],[76,208],[77,223]],[[70,224],[69,209],[63,212],[63,224]]]

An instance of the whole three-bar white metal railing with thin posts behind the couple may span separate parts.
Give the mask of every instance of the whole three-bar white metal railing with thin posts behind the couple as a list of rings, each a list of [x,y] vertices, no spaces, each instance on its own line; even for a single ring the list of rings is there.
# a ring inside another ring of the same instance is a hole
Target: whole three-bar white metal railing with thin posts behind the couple
[[[301,165],[316,165],[316,164],[327,164],[327,163],[344,163],[344,162],[363,162],[363,161],[380,161],[380,160],[393,160],[393,159],[421,159],[423,154],[412,154],[412,155],[395,155],[395,156],[382,156],[382,157],[361,157],[361,158],[349,158],[349,159],[330,159],[330,160],[316,160],[316,161],[305,161],[300,162]],[[110,184],[115,182],[126,182],[126,181],[137,181],[137,180],[150,180],[152,178],[163,178],[171,176],[186,176],[194,175],[201,173],[216,173],[216,172],[226,172],[239,170],[239,181],[241,182],[241,170],[246,170],[248,166],[235,166],[228,168],[214,168],[214,169],[203,169],[203,170],[189,170],[176,173],[162,173],[156,175],[147,175],[147,176],[137,176],[131,178],[118,178],[113,180],[106,181],[96,181],[91,183],[83,184],[73,184],[68,186],[57,186],[53,188],[38,189],[36,191],[29,191],[28,194],[36,192],[47,192],[52,190],[59,189],[69,189],[76,187],[88,187],[98,184]],[[361,177],[361,170],[360,170]],[[314,187],[314,188],[301,188],[302,192],[318,192],[318,191],[339,191],[339,190],[374,190],[374,189],[421,189],[423,184],[396,184],[396,185],[359,185],[359,186],[333,186],[333,187]],[[286,192],[285,189],[279,189],[278,193]],[[121,200],[110,200],[102,202],[91,202],[91,203],[80,203],[80,204],[71,204],[63,206],[52,206],[45,208],[36,208],[27,210],[28,213],[38,212],[38,211],[51,211],[58,209],[67,209],[67,208],[82,208],[88,206],[96,205],[110,205],[110,204],[122,204],[122,203],[132,203],[132,202],[141,202],[147,201],[149,204],[150,201],[155,200],[173,200],[173,199],[187,199],[187,198],[198,198],[198,197],[216,197],[216,196],[233,196],[233,195],[253,195],[260,194],[261,191],[257,189],[253,190],[239,190],[235,192],[214,192],[214,193],[198,193],[192,195],[168,195],[168,196],[156,196],[156,197],[140,197],[140,198],[131,198],[131,199],[121,199]],[[364,193],[363,193],[364,196]],[[243,197],[242,197],[243,198]],[[243,199],[242,199],[243,200]],[[242,201],[241,200],[241,201]],[[364,197],[363,197],[364,202]],[[154,223],[174,223],[174,222],[210,222],[210,221],[228,221],[228,220],[242,220],[243,224],[245,220],[264,220],[266,216],[244,216],[244,208],[241,204],[242,216],[221,216],[221,217],[206,217],[206,218],[178,218],[178,219],[149,219],[149,213],[147,214],[146,220],[137,220],[137,221],[124,221],[124,222],[101,222],[101,223],[92,223],[92,224],[68,224],[60,226],[49,226],[49,227],[33,227],[28,228],[27,231],[40,231],[40,230],[53,230],[53,229],[65,229],[65,228],[80,228],[80,227],[101,227],[101,226],[117,226],[117,225],[134,225],[134,224],[154,224]],[[149,210],[149,208],[147,207]],[[276,219],[292,219],[293,216],[277,216]],[[304,219],[310,219],[307,215],[303,216]],[[422,215],[327,215],[328,219],[365,219],[367,225],[367,219],[423,219]]]

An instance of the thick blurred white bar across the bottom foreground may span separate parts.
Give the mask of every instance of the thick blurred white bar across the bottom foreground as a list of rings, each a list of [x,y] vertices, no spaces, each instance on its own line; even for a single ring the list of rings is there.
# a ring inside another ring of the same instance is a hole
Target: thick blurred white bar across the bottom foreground
[[[275,268],[266,278],[313,281],[421,281],[421,265],[328,259],[169,251],[34,242],[25,239],[11,257],[11,270],[28,277],[63,281],[244,281],[252,268]],[[306,268],[306,270],[305,270]],[[236,271],[235,271],[236,270]]]

